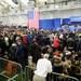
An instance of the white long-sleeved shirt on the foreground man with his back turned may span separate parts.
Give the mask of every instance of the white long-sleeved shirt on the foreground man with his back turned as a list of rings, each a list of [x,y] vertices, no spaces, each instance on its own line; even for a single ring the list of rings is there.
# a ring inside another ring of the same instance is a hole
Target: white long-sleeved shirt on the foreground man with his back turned
[[[48,72],[52,72],[52,64],[48,58],[41,58],[37,63],[35,75],[45,78]]]

